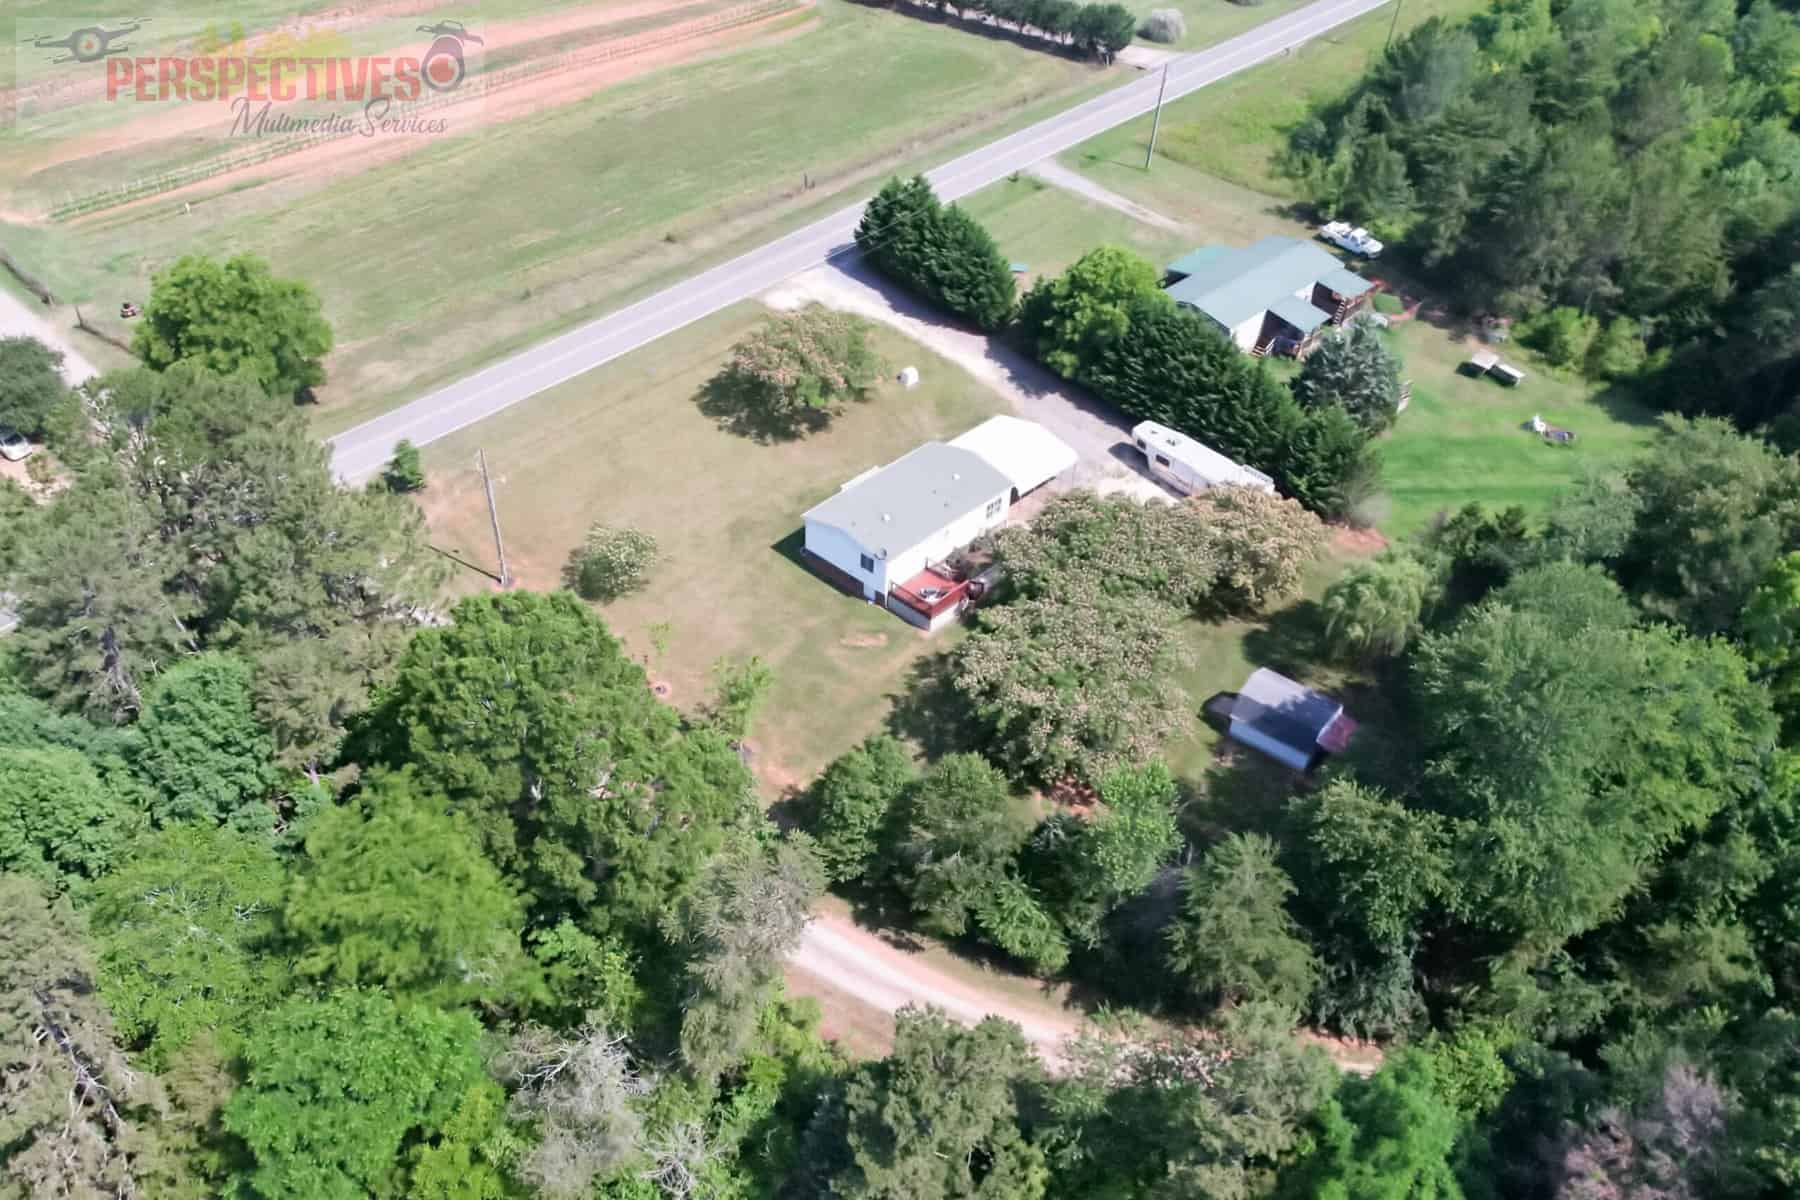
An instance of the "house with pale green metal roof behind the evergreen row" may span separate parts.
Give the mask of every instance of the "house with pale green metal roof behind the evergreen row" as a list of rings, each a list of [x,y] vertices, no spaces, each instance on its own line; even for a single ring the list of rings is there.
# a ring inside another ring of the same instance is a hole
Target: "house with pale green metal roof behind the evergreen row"
[[[1168,264],[1170,299],[1210,317],[1238,349],[1305,353],[1343,324],[1375,284],[1321,246],[1271,236],[1247,246],[1201,246]]]

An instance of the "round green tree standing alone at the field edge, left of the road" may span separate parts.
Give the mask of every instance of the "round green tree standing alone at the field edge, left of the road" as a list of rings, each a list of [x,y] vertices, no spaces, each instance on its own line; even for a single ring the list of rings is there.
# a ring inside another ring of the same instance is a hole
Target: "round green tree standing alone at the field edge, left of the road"
[[[263,390],[295,399],[324,383],[331,326],[311,288],[277,279],[252,254],[223,263],[187,255],[151,279],[131,349],[157,371],[178,362],[241,371]]]

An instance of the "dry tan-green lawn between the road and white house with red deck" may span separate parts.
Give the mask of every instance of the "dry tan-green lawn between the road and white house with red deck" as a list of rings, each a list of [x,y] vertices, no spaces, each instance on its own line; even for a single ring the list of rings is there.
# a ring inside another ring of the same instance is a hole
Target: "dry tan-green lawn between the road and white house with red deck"
[[[909,667],[958,637],[952,628],[925,639],[803,569],[794,560],[801,513],[862,470],[959,434],[1003,401],[923,345],[878,327],[875,344],[889,362],[918,365],[916,389],[884,385],[797,443],[725,434],[695,396],[760,311],[731,308],[428,446],[421,504],[439,549],[491,565],[473,470],[475,450],[486,450],[509,565],[533,588],[558,587],[592,522],[652,533],[661,561],[650,587],[601,615],[684,709],[704,702],[711,664],[724,655],[758,655],[774,667],[751,741],[776,799],[878,729]],[[459,585],[491,587],[475,572],[463,572]],[[666,653],[653,644],[661,624]]]

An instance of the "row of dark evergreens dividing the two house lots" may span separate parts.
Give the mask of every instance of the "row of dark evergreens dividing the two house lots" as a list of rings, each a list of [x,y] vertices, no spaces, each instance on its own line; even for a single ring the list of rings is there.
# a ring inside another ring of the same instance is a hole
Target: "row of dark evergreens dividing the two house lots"
[[[1292,387],[1175,306],[1161,270],[1100,246],[1017,297],[992,236],[923,176],[889,180],[857,227],[884,275],[979,329],[1012,327],[1049,369],[1132,419],[1152,419],[1267,471],[1325,516],[1352,516],[1379,488],[1370,439],[1391,425],[1400,369],[1381,336],[1352,327],[1309,356]]]

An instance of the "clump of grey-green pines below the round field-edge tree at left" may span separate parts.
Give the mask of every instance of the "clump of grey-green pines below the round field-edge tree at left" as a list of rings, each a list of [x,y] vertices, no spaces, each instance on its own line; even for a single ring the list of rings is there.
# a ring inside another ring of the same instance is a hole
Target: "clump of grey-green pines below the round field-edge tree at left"
[[[176,658],[256,666],[284,765],[320,770],[441,567],[410,502],[337,486],[292,405],[193,363],[90,387],[76,484],[11,563],[32,685],[126,720]]]

